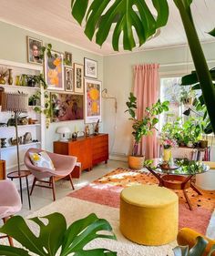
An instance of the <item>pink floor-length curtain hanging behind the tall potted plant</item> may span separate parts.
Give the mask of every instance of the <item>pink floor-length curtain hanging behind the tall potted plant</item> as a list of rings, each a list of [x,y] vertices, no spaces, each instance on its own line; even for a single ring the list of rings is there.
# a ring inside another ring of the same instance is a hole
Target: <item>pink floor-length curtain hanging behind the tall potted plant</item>
[[[134,67],[134,95],[137,97],[138,119],[145,115],[145,108],[158,100],[159,64],[145,64]],[[139,154],[145,159],[158,158],[158,138],[153,135],[144,136],[138,147]]]

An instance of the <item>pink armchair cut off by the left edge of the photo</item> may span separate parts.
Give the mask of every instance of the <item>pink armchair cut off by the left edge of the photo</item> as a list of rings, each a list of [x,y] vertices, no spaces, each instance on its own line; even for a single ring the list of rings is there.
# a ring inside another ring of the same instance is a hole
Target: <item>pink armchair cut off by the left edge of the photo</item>
[[[22,208],[22,203],[15,184],[10,180],[0,180],[0,218],[4,221],[17,213]],[[11,246],[12,238],[7,237]]]

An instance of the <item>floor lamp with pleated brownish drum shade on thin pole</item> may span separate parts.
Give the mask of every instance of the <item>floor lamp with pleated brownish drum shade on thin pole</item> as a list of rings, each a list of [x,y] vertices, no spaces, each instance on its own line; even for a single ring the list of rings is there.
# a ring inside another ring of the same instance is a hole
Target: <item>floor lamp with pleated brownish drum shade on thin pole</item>
[[[17,119],[21,113],[27,112],[28,107],[28,95],[24,93],[1,93],[1,105],[3,112],[14,112],[15,114],[15,140],[16,140],[16,153],[17,153],[17,165],[18,165],[18,175],[20,176],[20,162],[19,162],[19,145],[18,145],[18,128]],[[22,179],[19,178],[20,195],[23,201],[22,195]]]

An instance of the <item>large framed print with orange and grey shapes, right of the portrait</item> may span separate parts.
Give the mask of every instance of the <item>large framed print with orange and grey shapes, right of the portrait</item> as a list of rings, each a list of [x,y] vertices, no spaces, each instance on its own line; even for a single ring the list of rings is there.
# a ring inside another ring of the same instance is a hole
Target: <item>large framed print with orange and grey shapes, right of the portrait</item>
[[[51,51],[51,54],[51,57],[45,55],[45,78],[47,88],[52,90],[64,90],[64,55],[55,51]]]

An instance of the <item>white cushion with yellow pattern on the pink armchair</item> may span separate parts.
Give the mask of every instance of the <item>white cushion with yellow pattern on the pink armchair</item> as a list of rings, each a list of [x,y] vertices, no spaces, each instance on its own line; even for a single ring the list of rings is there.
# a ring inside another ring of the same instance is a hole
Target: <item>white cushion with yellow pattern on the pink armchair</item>
[[[41,151],[38,153],[29,152],[29,156],[34,166],[55,170],[52,159],[50,159],[50,157],[45,151]]]

